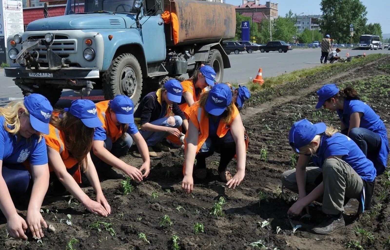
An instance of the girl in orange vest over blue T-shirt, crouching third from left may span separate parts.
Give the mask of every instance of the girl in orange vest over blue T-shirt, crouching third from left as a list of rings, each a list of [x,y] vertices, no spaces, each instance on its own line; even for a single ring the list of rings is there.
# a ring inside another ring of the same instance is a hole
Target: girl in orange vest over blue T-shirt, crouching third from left
[[[142,181],[149,174],[150,158],[144,137],[134,124],[133,101],[127,96],[117,95],[110,101],[98,102],[96,110],[103,125],[95,128],[91,157],[99,180],[121,178],[122,174],[112,169],[115,167],[133,180]],[[119,159],[127,154],[133,139],[144,160],[139,170]],[[142,174],[142,171],[145,173]]]

